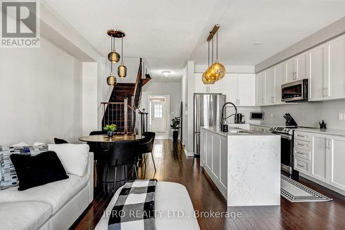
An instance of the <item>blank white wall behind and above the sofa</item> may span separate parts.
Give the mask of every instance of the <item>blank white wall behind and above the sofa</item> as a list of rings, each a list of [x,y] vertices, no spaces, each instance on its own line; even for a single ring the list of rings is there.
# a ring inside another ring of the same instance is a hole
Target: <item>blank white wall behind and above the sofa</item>
[[[0,144],[77,142],[81,62],[41,37],[41,48],[0,52]]]

